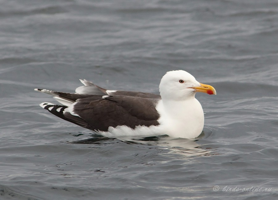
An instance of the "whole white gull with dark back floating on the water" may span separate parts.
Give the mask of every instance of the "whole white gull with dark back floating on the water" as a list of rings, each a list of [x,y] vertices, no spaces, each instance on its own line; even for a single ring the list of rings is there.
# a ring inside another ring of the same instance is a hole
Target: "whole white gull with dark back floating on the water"
[[[204,112],[196,92],[216,94],[184,70],[168,71],[158,94],[107,90],[83,79],[75,93],[46,89],[62,105],[43,102],[40,106],[66,121],[105,137],[158,136],[198,137],[204,128]]]

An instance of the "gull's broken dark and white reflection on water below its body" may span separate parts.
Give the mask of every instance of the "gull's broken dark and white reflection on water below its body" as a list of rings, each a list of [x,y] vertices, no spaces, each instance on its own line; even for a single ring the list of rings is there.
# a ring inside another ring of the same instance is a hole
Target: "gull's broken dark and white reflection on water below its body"
[[[202,138],[203,135],[204,134],[202,133],[198,138]],[[70,143],[104,145],[124,142],[132,145],[156,146],[157,148],[169,150],[169,153],[178,153],[186,156],[210,156],[218,154],[215,152],[215,147],[197,144],[199,140],[198,138],[194,140],[186,138],[171,138],[168,135],[138,138],[130,138],[130,136],[122,138],[107,138],[94,134],[90,138],[72,141]]]

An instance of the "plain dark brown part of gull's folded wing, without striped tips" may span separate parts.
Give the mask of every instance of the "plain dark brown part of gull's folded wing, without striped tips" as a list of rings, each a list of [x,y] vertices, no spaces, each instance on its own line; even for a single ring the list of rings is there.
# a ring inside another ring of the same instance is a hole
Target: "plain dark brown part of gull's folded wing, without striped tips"
[[[107,96],[102,99],[78,99],[73,112],[87,122],[89,129],[107,131],[109,126],[157,126],[158,99],[131,96]]]

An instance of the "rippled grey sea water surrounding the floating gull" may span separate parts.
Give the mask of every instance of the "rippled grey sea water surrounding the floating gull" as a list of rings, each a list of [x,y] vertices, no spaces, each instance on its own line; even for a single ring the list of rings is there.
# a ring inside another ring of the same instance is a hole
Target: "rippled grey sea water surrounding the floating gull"
[[[217,95],[196,140],[104,138],[38,106],[79,78]],[[0,199],[278,199],[277,0],[0,1]]]

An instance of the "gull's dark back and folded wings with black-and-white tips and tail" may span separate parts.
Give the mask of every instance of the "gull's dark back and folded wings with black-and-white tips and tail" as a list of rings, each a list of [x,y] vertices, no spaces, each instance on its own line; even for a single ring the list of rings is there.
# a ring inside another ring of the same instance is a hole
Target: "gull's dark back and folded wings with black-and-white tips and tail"
[[[155,105],[161,99],[159,95],[106,90],[85,79],[80,81],[84,86],[78,87],[74,94],[35,89],[52,95],[64,105],[58,106],[44,102],[40,106],[62,119],[96,131],[107,131],[109,126],[119,125],[131,128],[138,125],[158,125],[159,114]],[[68,106],[71,109],[73,103],[74,115],[67,109]]]

